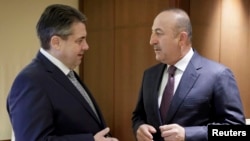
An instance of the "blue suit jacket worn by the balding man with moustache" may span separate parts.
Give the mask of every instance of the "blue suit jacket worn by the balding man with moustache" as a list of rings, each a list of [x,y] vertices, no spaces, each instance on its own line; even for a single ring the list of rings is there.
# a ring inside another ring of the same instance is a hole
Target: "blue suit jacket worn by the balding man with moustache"
[[[137,106],[133,112],[133,130],[150,124],[177,123],[185,127],[186,141],[206,141],[209,124],[245,124],[243,107],[232,72],[225,66],[198,55],[189,62],[172,99],[166,123],[161,123],[158,90],[166,65],[158,64],[144,72]]]

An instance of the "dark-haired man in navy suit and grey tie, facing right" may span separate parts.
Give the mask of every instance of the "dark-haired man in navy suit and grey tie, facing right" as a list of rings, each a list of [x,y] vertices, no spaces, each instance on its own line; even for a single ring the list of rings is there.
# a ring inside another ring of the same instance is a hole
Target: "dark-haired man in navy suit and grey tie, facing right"
[[[73,71],[89,48],[85,22],[67,5],[53,4],[42,13],[36,27],[41,48],[17,75],[7,98],[16,141],[117,141]],[[71,81],[70,72],[76,79]]]

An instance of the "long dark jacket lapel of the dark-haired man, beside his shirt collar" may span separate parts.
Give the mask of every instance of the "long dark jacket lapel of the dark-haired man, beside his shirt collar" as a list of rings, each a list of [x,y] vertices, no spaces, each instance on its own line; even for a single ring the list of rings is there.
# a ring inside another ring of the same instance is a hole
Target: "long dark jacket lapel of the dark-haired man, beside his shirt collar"
[[[65,88],[70,94],[72,94],[72,96],[74,96],[77,99],[77,101],[81,103],[83,108],[86,109],[90,113],[90,115],[96,119],[98,123],[100,123],[95,113],[93,112],[89,104],[87,103],[87,101],[83,98],[83,96],[77,90],[77,88],[71,83],[68,77],[60,69],[58,69],[53,63],[51,63],[45,56],[43,56],[40,52],[37,55],[37,59],[45,66],[45,68],[47,68],[48,74],[51,75],[51,78],[57,81],[58,84],[62,85],[63,88]],[[97,112],[98,112],[98,115],[100,115],[98,110]]]

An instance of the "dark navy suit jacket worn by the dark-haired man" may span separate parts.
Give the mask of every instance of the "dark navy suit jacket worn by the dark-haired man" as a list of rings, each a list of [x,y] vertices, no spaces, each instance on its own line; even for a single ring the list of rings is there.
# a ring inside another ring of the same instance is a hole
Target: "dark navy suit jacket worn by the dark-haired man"
[[[7,98],[16,141],[93,141],[106,125],[82,86],[101,122],[67,76],[39,52],[18,74]]]

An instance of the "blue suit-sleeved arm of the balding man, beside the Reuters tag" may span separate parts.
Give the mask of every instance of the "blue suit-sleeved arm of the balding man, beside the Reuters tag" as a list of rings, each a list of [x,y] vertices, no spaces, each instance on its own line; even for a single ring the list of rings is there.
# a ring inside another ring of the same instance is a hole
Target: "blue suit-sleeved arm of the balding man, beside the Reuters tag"
[[[208,125],[245,124],[242,102],[232,72],[226,68],[217,72],[215,77]],[[207,125],[184,128],[186,141],[207,140]]]

